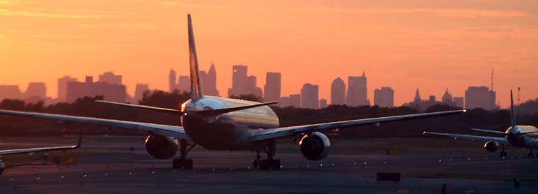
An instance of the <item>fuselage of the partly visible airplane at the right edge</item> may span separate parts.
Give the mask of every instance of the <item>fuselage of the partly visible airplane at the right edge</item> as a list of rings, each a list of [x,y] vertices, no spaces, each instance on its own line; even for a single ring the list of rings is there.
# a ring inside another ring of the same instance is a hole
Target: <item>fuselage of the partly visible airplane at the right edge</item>
[[[538,148],[538,128],[534,126],[509,127],[505,134],[510,145],[514,147]]]

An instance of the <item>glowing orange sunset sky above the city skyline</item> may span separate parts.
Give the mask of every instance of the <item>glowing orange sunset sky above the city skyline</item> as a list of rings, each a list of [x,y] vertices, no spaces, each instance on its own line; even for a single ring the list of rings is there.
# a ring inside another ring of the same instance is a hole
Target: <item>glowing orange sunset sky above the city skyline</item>
[[[308,3],[305,3],[308,2]],[[521,101],[538,97],[538,1],[13,1],[0,0],[0,85],[45,82],[56,97],[57,78],[84,80],[105,71],[167,90],[168,71],[188,74],[187,13],[193,14],[200,68],[217,66],[222,95],[231,66],[282,73],[282,95],[304,83],[329,99],[338,76],[368,78],[373,90],[390,86],[395,104],[440,99],[449,87],[490,85],[498,102],[522,87]]]

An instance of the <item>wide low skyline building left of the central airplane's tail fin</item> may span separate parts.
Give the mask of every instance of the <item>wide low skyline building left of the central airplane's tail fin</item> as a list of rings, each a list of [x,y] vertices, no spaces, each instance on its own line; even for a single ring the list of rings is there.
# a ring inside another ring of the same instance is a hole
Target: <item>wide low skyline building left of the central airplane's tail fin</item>
[[[112,102],[125,102],[127,93],[125,85],[110,84],[108,82],[93,82],[93,77],[86,76],[86,82],[67,83],[67,102],[75,102],[81,97],[95,97],[103,95],[104,99]]]

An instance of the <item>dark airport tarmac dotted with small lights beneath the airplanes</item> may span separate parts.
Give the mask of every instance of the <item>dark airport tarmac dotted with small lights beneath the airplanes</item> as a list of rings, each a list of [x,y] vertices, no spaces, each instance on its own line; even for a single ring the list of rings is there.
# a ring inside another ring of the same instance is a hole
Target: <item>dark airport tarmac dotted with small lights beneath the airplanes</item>
[[[91,139],[73,152],[78,164],[49,159],[47,165],[6,169],[0,193],[440,193],[444,183],[450,193],[538,193],[538,159],[528,159],[525,150],[508,150],[509,157],[501,159],[480,143],[458,149],[433,139],[429,143],[445,148],[417,142],[402,145],[399,155],[386,155],[383,147],[394,148],[395,141],[408,140],[336,142],[320,162],[304,159],[297,145],[282,141],[276,155],[282,170],[260,171],[250,167],[252,152],[197,147],[189,153],[193,170],[173,170],[171,159],[147,154],[142,138]],[[377,182],[377,172],[399,172],[401,181]],[[513,178],[523,180],[520,188]]]

